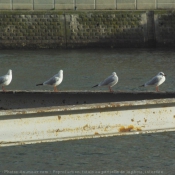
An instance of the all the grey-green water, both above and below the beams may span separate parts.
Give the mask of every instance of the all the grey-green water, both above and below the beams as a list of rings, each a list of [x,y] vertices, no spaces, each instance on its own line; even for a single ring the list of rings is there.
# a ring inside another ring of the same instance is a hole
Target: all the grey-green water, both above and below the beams
[[[119,76],[116,91],[154,91],[138,86],[160,71],[167,74],[160,90],[174,91],[174,63],[173,50],[0,51],[0,74],[13,70],[13,81],[7,87],[13,90],[52,90],[35,84],[63,69],[62,91],[91,90],[113,71]],[[168,132],[1,147],[0,174],[173,175],[174,143],[175,132]]]

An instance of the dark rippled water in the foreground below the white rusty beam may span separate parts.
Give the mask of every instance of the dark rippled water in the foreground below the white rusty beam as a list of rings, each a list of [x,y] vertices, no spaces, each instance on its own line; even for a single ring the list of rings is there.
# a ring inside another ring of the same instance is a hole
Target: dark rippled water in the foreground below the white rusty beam
[[[175,132],[168,132],[2,147],[0,170],[21,175],[174,175],[174,143]]]

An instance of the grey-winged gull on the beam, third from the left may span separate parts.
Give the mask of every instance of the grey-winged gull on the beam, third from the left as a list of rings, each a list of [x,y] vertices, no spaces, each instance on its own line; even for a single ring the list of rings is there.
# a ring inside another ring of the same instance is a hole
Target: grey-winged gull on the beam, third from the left
[[[118,76],[115,72],[112,73],[112,75],[110,75],[108,78],[106,78],[104,81],[102,81],[101,83],[93,86],[93,87],[97,87],[97,86],[108,86],[109,87],[109,91],[113,92],[112,90],[112,86],[114,86],[116,83],[118,82]]]

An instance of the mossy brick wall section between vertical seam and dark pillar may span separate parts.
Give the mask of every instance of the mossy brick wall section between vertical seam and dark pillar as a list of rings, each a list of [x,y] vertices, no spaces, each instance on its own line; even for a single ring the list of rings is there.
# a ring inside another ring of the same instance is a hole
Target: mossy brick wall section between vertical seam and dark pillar
[[[70,16],[68,47],[144,47],[145,12],[99,12]]]

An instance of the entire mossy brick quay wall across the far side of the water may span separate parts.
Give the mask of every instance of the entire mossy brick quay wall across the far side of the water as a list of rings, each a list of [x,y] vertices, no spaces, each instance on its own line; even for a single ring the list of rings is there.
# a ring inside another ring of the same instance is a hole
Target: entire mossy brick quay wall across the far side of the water
[[[0,11],[0,49],[174,47],[174,11]]]

